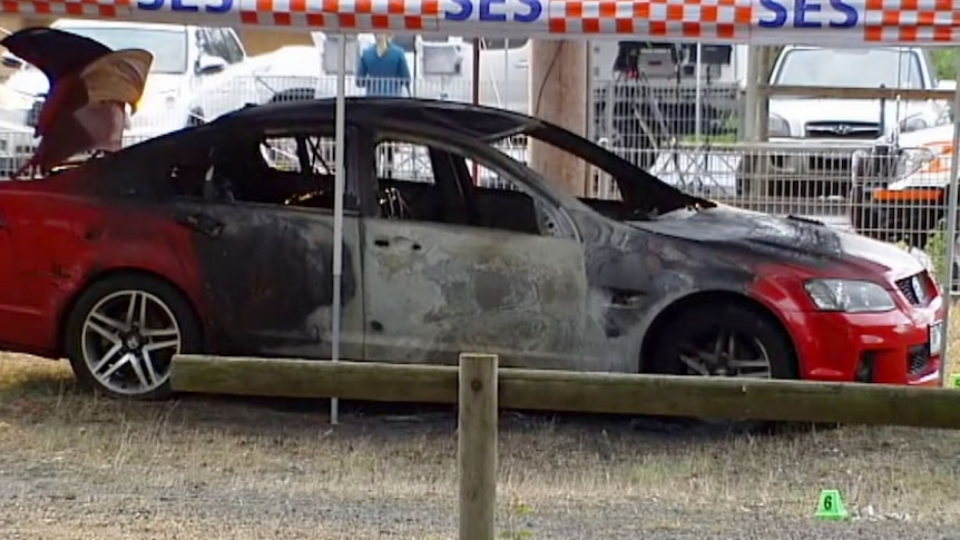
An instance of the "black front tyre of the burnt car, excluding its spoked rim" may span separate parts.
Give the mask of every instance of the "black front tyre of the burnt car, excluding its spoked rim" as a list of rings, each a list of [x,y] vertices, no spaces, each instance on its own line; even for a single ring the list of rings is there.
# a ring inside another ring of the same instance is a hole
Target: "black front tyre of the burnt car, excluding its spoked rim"
[[[735,303],[693,305],[674,313],[664,324],[658,325],[655,332],[655,341],[647,348],[649,352],[648,363],[645,366],[647,373],[704,376],[694,373],[682,357],[688,356],[689,351],[698,346],[715,344],[715,338],[722,332],[727,332],[737,336],[737,343],[752,345],[754,352],[765,353],[766,356],[766,373],[757,371],[739,376],[785,380],[800,377],[796,355],[788,335],[771,315],[761,312],[760,308]],[[712,340],[714,341],[712,342]],[[750,348],[747,347],[747,350]],[[707,376],[731,375],[715,373]],[[770,429],[780,424],[771,421],[716,421],[707,419],[684,419],[680,422],[698,425],[719,424],[735,431],[747,432]]]

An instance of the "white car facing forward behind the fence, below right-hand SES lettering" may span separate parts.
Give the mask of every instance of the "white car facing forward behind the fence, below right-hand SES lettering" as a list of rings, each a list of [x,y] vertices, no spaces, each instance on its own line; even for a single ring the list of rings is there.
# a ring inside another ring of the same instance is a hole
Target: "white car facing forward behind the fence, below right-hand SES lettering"
[[[790,46],[776,58],[770,85],[934,90],[952,82],[937,77],[929,51],[921,47]],[[949,107],[942,100],[774,95],[767,136],[776,145],[742,161],[738,190],[748,193],[756,180],[770,183],[773,194],[845,197],[853,151],[894,130],[905,134],[949,121]]]

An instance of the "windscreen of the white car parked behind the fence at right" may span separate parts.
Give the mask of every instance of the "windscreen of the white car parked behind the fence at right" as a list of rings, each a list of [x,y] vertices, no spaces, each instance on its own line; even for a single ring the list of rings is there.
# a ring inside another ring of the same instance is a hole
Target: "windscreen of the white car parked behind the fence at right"
[[[922,88],[917,53],[898,49],[796,49],[786,52],[774,85]]]

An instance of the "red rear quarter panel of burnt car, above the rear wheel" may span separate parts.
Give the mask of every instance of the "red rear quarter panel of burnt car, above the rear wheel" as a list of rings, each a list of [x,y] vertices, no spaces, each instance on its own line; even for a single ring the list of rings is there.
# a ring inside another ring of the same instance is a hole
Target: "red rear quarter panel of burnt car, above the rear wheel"
[[[186,233],[153,207],[78,196],[3,193],[12,264],[0,274],[10,291],[0,305],[0,343],[60,354],[61,323],[71,302],[106,272],[138,269],[179,287],[206,315],[196,257]]]

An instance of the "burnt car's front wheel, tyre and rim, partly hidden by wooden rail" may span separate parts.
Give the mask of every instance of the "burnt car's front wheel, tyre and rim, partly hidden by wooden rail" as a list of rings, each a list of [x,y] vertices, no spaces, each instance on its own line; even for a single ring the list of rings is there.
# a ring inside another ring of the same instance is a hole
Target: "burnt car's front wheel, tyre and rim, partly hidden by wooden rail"
[[[788,336],[768,315],[737,304],[696,305],[656,328],[648,371],[669,375],[797,379]],[[766,421],[694,420],[754,431]]]

